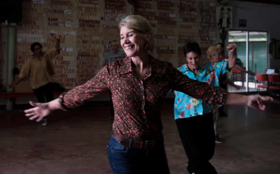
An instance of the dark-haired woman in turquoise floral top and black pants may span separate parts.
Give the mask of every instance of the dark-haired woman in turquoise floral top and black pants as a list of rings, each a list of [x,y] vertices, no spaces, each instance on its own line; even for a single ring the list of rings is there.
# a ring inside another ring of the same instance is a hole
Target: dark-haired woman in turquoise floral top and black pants
[[[178,70],[191,79],[219,86],[219,78],[235,65],[236,45],[227,47],[231,56],[228,60],[212,64],[208,61],[205,67],[199,66],[201,50],[198,43],[187,43],[184,49],[186,64]],[[188,172],[195,174],[216,174],[216,169],[209,160],[215,150],[215,133],[213,128],[212,107],[204,101],[185,93],[174,91],[174,116],[177,129],[188,156]]]

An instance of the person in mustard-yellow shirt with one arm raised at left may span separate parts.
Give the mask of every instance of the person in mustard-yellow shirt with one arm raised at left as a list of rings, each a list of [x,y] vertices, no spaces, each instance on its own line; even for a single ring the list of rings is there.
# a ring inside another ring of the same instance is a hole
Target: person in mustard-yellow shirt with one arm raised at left
[[[51,86],[51,76],[54,75],[54,69],[51,58],[59,53],[60,39],[55,34],[51,34],[51,36],[56,39],[55,48],[43,52],[42,45],[39,42],[34,42],[31,45],[33,55],[24,63],[18,79],[9,85],[12,88],[19,82],[30,78],[31,87],[40,103],[45,103],[44,94],[47,102],[54,99]],[[48,120],[45,118],[42,125],[46,126],[47,124]]]

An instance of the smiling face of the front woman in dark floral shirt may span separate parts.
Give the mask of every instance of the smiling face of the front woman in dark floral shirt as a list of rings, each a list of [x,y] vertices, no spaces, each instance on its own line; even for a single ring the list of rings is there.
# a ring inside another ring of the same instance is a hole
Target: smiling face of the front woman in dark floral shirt
[[[120,44],[128,57],[139,56],[145,52],[147,40],[143,34],[136,33],[135,30],[126,26],[120,28]]]

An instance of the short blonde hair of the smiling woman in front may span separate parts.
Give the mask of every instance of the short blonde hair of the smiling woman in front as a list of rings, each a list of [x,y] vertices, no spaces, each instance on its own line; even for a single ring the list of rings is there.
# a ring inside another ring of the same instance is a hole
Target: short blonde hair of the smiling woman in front
[[[129,29],[135,30],[142,34],[151,34],[151,40],[148,42],[148,50],[154,49],[154,34],[151,24],[142,16],[128,15],[119,23],[119,28],[126,26]]]

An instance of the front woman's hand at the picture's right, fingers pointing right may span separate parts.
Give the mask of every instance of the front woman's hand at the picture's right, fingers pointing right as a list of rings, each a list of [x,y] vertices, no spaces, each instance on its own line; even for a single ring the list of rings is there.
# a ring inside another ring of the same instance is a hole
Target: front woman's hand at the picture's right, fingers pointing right
[[[254,109],[265,110],[265,101],[273,101],[273,98],[269,96],[261,96],[258,94],[248,95],[247,106],[252,107]]]

